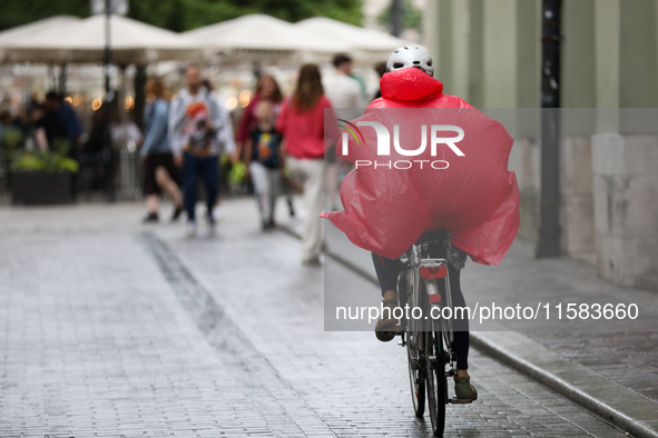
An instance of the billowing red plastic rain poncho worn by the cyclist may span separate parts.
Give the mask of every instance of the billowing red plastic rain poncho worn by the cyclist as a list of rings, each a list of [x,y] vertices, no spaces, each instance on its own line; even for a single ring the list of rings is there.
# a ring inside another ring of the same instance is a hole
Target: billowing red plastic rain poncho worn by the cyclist
[[[519,230],[519,188],[514,173],[508,171],[512,138],[502,125],[464,100],[443,94],[443,84],[419,69],[386,73],[380,84],[383,97],[352,120],[352,131],[359,129],[354,137],[363,136],[363,141],[344,136],[348,151],[342,141],[336,147],[338,155],[356,163],[341,186],[345,211],[323,217],[356,246],[391,259],[406,251],[425,230],[444,228],[452,233],[452,243],[472,260],[499,265]],[[387,128],[389,156],[377,155],[375,129],[360,121]],[[431,147],[432,136],[455,137],[443,129],[434,133],[426,129],[426,148],[421,155],[400,153],[394,147],[394,125],[399,126],[399,145],[407,151],[421,145],[421,126],[460,127],[464,137],[454,146],[463,156],[445,143]],[[420,160],[428,160],[422,169]],[[384,166],[375,168],[374,162]],[[410,169],[402,169],[410,163]]]

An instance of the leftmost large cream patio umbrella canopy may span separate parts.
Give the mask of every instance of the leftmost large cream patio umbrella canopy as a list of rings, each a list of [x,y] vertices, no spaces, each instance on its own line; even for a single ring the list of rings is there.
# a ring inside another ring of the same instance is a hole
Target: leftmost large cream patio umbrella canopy
[[[9,62],[102,62],[105,16],[60,22],[32,34],[0,40]],[[112,62],[145,64],[159,60],[194,60],[203,56],[198,43],[169,30],[121,16],[110,18]]]

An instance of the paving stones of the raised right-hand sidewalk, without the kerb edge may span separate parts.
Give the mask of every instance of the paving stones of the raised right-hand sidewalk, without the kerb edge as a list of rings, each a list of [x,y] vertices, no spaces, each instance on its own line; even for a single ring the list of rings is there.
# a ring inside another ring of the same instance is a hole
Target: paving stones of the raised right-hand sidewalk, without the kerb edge
[[[325,230],[332,252],[346,258],[366,276],[374,276],[369,253],[356,249],[340,231],[326,227]],[[468,262],[461,277],[467,302],[471,306],[475,301],[487,303],[492,299],[499,306],[504,306],[503,302],[536,305],[538,301],[554,302],[556,299],[564,303],[626,302],[637,303],[645,315],[658,315],[656,291],[615,286],[600,279],[596,269],[585,261],[567,258],[538,260],[532,253],[532,245],[517,240],[499,267]],[[332,296],[337,295],[335,290]],[[645,326],[652,331],[620,330],[615,328],[613,321],[602,319],[581,322],[583,329],[566,326],[579,321],[561,322],[563,327],[551,323],[541,328],[531,321],[521,331],[544,347],[658,401],[658,323],[655,318],[645,320],[648,322]]]

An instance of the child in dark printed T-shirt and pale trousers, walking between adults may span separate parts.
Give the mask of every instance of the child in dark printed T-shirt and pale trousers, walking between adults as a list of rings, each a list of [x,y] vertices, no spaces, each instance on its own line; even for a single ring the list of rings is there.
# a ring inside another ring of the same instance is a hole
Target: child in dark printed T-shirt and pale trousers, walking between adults
[[[245,165],[254,183],[254,195],[261,211],[263,230],[275,227],[274,211],[284,168],[281,133],[274,128],[274,104],[261,100],[256,106],[258,123],[252,129],[245,146]]]

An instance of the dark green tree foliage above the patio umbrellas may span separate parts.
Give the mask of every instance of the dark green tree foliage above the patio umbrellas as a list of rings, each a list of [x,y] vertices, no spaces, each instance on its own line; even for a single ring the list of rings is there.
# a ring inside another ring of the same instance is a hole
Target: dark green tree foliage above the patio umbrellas
[[[88,17],[89,0],[2,0],[0,30],[39,19],[71,14]],[[247,13],[267,13],[287,21],[328,17],[361,24],[363,0],[130,0],[128,17],[184,31]]]

